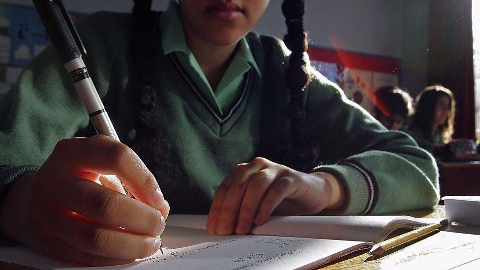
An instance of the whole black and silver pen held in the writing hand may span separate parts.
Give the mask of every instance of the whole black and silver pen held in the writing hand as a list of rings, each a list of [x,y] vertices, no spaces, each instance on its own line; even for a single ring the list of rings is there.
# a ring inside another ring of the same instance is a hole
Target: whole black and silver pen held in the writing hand
[[[120,142],[119,136],[108,117],[107,111],[83,61],[82,56],[87,55],[87,50],[65,6],[61,0],[33,0],[33,4],[47,30],[57,55],[70,74],[95,131],[98,134],[107,135]],[[128,189],[123,188],[127,195],[132,196]],[[163,254],[161,244],[160,251]]]

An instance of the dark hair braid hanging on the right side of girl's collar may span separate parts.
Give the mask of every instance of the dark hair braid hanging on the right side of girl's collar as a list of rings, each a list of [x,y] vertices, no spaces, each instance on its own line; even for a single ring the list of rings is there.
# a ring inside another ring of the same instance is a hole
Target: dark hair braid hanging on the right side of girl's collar
[[[303,53],[308,49],[307,33],[303,30],[304,0],[284,0],[282,12],[287,24],[285,45],[292,51],[285,73],[285,80],[290,90],[288,115],[291,120],[290,146],[285,162],[292,168],[306,171],[311,169],[318,157],[318,147],[306,145],[303,138],[305,123],[304,95],[305,87],[310,82]]]

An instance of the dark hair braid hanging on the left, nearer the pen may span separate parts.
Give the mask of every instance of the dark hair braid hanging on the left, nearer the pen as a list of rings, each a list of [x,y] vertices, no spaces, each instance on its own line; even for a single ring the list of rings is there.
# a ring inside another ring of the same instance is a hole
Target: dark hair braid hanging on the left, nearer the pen
[[[183,198],[188,196],[197,202],[197,211],[208,213],[210,198],[200,189],[197,183],[184,181],[188,176],[180,169],[180,157],[165,136],[163,127],[150,123],[153,119],[150,112],[155,108],[156,90],[159,86],[155,80],[155,60],[161,50],[158,50],[160,36],[156,13],[151,11],[152,0],[134,0],[133,31],[131,54],[133,61],[133,99],[136,103],[134,128],[136,136],[128,144],[155,175],[162,187],[166,199],[171,203],[171,213],[191,213],[191,205]],[[158,106],[158,105],[157,105]],[[168,197],[168,194],[177,196]]]

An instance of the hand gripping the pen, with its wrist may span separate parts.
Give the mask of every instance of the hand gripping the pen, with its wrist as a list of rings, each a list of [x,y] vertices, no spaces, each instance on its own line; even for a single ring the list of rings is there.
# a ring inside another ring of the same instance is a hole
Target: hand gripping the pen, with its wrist
[[[116,175],[137,200],[95,183],[101,175]],[[169,210],[135,152],[95,135],[61,140],[37,173],[15,181],[0,232],[60,261],[125,264],[159,249]]]

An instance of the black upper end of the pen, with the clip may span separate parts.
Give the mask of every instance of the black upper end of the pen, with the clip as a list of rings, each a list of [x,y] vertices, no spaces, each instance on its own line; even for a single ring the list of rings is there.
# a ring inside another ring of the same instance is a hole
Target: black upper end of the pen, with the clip
[[[60,8],[50,0],[33,0],[33,4],[62,63],[81,57]]]

